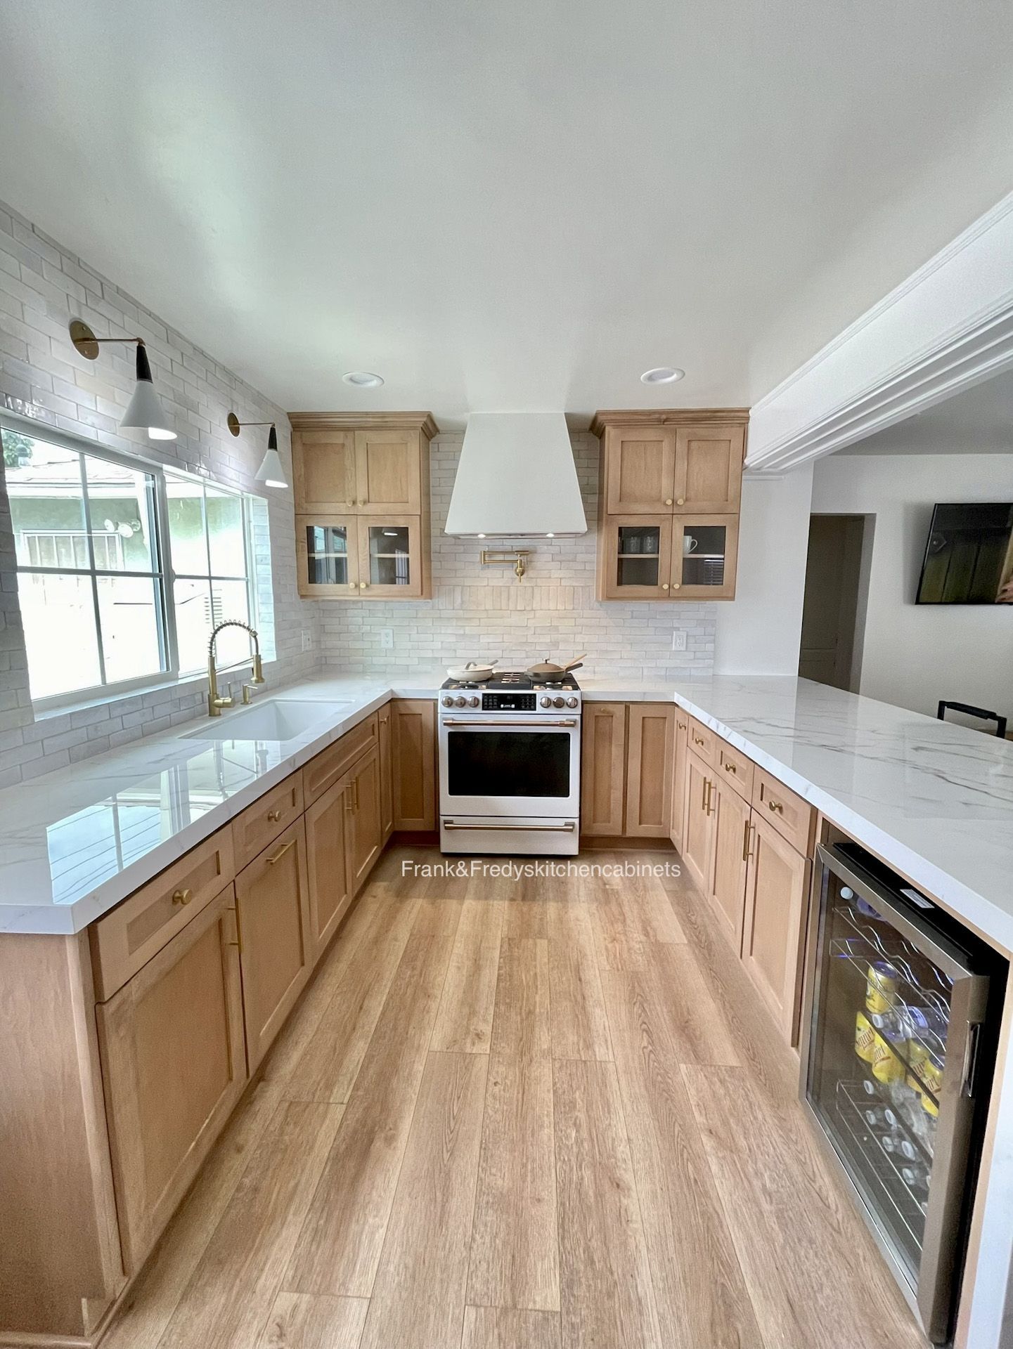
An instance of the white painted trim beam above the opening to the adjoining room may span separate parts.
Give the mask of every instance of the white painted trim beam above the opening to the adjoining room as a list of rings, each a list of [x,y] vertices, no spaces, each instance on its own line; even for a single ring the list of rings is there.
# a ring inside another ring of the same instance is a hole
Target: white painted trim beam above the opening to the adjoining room
[[[746,467],[830,455],[1013,368],[1013,193],[750,413]]]

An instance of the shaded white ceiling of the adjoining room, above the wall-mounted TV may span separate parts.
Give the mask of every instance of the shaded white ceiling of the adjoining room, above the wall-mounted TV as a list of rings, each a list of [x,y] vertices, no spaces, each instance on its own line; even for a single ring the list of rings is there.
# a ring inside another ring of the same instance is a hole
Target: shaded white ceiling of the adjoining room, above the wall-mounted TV
[[[997,375],[842,455],[1013,455],[1013,372]]]

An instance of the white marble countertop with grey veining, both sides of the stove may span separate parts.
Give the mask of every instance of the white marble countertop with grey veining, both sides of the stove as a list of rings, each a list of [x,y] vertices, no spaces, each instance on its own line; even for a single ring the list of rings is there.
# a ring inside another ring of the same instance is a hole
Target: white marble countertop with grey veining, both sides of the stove
[[[345,706],[281,745],[181,738],[194,722],[0,792],[0,931],[81,931],[387,699],[433,697],[441,677],[290,685],[264,696]],[[598,677],[581,689],[589,701],[678,703],[1013,950],[1013,743],[789,677]]]

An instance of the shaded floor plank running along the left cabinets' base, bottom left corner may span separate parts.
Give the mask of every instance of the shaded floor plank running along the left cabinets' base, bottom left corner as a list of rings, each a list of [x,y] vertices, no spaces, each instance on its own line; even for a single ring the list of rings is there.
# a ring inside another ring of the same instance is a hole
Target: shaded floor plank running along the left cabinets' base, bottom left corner
[[[279,1103],[260,1082],[241,1099],[103,1338],[104,1349],[156,1349]]]

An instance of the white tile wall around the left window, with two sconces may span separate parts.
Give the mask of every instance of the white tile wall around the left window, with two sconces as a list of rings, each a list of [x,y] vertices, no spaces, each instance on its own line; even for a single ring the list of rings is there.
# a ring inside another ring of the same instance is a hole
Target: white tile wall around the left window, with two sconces
[[[119,430],[134,390],[134,348],[104,347],[98,360],[85,360],[70,345],[71,317],[84,318],[98,337],[144,339],[178,440],[152,444],[143,432]],[[267,428],[233,438],[225,417],[236,411],[240,421],[277,421],[281,455],[290,463],[289,421],[281,407],[1,204],[0,405],[31,414],[40,434],[50,425],[116,449],[142,449],[148,459],[202,467],[221,483],[266,496],[254,473],[267,447]],[[320,661],[318,611],[295,590],[291,492],[270,495],[268,526],[255,540],[262,556],[268,546],[275,612],[263,635],[272,638],[277,658],[264,672],[268,683],[281,683],[312,672]],[[302,652],[303,629],[313,635],[309,653]],[[0,465],[0,786],[163,731],[194,716],[204,696],[202,684],[175,685],[35,718]]]

